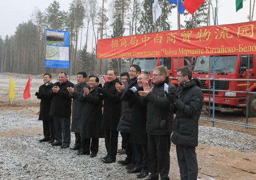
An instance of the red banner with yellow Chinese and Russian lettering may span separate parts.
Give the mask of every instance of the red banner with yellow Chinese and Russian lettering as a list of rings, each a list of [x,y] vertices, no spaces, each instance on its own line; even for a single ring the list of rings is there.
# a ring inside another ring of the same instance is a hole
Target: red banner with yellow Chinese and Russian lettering
[[[99,39],[97,58],[183,57],[256,52],[256,21]]]

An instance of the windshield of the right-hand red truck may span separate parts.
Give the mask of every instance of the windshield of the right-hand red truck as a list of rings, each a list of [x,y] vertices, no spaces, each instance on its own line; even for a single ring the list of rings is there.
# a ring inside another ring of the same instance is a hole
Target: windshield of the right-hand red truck
[[[232,56],[215,56],[215,70],[223,73],[232,73],[236,68],[237,55]],[[193,71],[213,71],[213,56],[199,56],[196,59],[196,64]]]

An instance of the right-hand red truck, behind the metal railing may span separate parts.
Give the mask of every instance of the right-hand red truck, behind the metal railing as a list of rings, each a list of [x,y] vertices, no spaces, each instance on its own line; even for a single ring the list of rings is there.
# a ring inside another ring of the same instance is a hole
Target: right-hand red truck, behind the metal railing
[[[226,55],[226,56],[198,56],[195,57],[193,77],[201,79],[202,89],[213,88],[213,62],[215,58],[215,89],[229,92],[216,91],[214,98],[214,109],[216,111],[234,111],[242,109],[246,115],[247,79],[255,79],[256,76],[256,55]],[[249,61],[249,77],[248,75]],[[209,73],[210,72],[210,73]],[[234,80],[231,80],[234,79]],[[223,80],[223,81],[222,81]],[[239,81],[238,81],[239,80]],[[245,81],[240,81],[245,80]],[[233,92],[230,92],[233,91]],[[256,92],[256,82],[249,81],[249,92]],[[209,95],[210,93],[210,95]],[[211,109],[213,105],[213,92],[203,91],[203,109],[209,109],[209,97]],[[256,117],[256,94],[249,94],[248,117]]]

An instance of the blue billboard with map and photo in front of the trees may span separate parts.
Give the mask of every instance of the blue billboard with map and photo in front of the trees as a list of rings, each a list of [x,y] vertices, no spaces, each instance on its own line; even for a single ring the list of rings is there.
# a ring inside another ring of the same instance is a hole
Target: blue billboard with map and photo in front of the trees
[[[46,29],[44,66],[69,68],[69,31]]]

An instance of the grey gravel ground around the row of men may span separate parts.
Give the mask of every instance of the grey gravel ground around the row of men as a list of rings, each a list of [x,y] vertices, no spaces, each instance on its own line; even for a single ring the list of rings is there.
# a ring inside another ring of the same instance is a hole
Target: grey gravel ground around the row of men
[[[42,122],[37,119],[33,114],[0,110],[0,179],[137,179],[118,163],[101,162],[100,158],[106,155],[103,139],[95,158],[39,143]],[[199,143],[251,152],[256,147],[255,136],[238,131],[200,126],[199,132]],[[71,141],[74,142],[73,133]],[[125,155],[117,156],[117,160],[124,158]],[[171,155],[171,159],[175,158]],[[174,173],[178,177],[171,169],[170,174]]]

